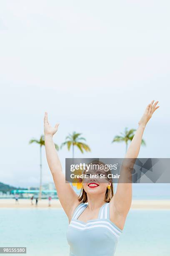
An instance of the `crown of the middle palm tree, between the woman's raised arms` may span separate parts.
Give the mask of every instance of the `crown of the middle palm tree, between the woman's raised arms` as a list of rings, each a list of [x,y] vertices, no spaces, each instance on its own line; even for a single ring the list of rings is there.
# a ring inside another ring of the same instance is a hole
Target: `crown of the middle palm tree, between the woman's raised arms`
[[[72,134],[69,134],[65,139],[66,141],[61,144],[61,148],[65,145],[67,145],[68,151],[70,151],[70,147],[72,146],[72,158],[74,158],[74,147],[76,146],[77,148],[80,149],[82,154],[84,153],[83,150],[91,151],[90,147],[83,143],[82,141],[86,141],[85,138],[80,137],[82,133],[76,133],[73,132]]]

